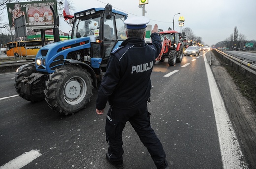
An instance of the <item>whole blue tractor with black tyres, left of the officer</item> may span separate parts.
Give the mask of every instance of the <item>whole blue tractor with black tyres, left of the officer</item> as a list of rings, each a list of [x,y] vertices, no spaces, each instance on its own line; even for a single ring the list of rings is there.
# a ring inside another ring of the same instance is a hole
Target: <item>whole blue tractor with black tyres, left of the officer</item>
[[[83,109],[106,72],[110,53],[127,38],[126,18],[109,4],[75,13],[70,40],[45,45],[35,63],[17,69],[16,92],[32,102],[45,99],[65,115]]]

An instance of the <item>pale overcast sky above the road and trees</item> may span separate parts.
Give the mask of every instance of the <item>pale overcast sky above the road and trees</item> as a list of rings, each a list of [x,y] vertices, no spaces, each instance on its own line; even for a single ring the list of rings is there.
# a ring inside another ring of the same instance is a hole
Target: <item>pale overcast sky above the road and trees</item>
[[[128,17],[142,16],[139,0],[70,0],[75,11],[70,14],[94,7],[105,7],[128,14]],[[173,26],[180,32],[178,19],[184,16],[184,27],[189,27],[195,36],[202,37],[208,45],[216,44],[228,38],[237,26],[238,33],[246,40],[256,40],[256,0],[148,0],[145,16],[149,24],[158,24],[159,29],[167,30]],[[64,4],[63,4],[64,5]],[[61,19],[60,30],[68,33],[71,27]]]

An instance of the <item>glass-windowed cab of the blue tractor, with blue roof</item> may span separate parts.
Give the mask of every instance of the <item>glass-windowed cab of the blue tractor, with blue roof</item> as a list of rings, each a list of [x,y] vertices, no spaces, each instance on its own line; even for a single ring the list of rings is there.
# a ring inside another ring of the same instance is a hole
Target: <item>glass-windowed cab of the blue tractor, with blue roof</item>
[[[124,25],[126,18],[127,14],[112,10],[111,5],[77,12],[71,38],[89,37],[91,51],[95,52],[92,57],[108,58],[111,51],[127,38]],[[104,52],[101,52],[102,48]]]

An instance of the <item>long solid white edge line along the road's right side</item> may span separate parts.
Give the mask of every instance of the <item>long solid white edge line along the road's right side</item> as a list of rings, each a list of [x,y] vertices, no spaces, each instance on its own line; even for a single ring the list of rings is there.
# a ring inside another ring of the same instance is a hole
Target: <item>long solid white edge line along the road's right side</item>
[[[248,169],[248,165],[243,161],[244,158],[238,139],[228,117],[223,99],[214,80],[213,73],[207,62],[205,54],[203,57],[212,97],[223,169]]]

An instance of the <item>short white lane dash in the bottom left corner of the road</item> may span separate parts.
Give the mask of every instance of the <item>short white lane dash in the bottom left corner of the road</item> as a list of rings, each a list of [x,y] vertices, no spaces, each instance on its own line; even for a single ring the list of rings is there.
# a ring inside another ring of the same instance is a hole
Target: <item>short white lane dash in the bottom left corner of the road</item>
[[[24,154],[11,160],[10,162],[2,165],[0,169],[20,169],[32,162],[34,159],[40,157],[41,155],[42,154],[39,150],[31,150],[29,152],[25,152]]]

